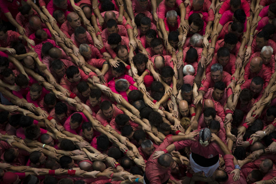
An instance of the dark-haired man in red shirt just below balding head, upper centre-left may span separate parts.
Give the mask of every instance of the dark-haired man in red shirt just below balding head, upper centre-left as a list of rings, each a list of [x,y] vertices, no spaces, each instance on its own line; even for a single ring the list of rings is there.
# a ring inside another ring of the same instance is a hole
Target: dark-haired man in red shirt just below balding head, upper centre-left
[[[108,36],[112,33],[118,33],[120,36],[127,37],[127,38],[129,37],[125,26],[118,25],[116,20],[114,20],[114,19],[109,19],[106,23],[106,26],[107,26],[107,28],[105,28],[101,32],[101,38],[102,38],[104,44],[106,44]]]

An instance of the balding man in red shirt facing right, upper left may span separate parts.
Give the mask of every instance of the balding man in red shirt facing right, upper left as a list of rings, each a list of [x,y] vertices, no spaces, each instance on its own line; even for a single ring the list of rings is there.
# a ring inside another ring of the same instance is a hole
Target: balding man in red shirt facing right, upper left
[[[60,30],[66,35],[67,38],[71,38],[75,29],[81,26],[81,18],[75,12],[71,12],[67,15],[66,21],[60,26]]]

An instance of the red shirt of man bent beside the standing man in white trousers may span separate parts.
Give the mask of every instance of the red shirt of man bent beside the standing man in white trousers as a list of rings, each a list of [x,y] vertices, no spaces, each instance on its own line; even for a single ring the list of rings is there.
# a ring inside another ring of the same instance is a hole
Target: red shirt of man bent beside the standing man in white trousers
[[[173,139],[168,137],[155,151],[166,149],[166,147],[173,143]],[[147,160],[145,175],[150,183],[162,184],[170,178],[171,168],[163,168],[158,164],[158,159],[153,159],[152,155]]]

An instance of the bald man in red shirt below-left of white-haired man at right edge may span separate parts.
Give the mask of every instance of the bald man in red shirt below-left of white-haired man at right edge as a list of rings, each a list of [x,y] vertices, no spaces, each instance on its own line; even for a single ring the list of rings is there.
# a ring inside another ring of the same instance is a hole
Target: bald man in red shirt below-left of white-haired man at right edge
[[[248,80],[255,76],[260,76],[264,79],[264,87],[267,87],[270,77],[271,77],[271,70],[267,66],[262,63],[261,57],[254,57],[244,68],[245,73],[244,76],[241,76],[241,79]]]

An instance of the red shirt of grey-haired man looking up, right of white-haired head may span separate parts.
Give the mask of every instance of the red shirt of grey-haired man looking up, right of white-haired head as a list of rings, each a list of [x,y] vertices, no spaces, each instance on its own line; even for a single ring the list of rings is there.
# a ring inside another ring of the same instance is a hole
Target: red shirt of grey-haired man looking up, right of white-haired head
[[[222,72],[222,82],[225,83],[225,86],[228,86],[231,83],[231,75],[225,71]],[[206,79],[203,82],[203,87],[200,87],[198,91],[204,91],[205,93],[208,91],[210,87],[214,87],[215,83],[212,79],[211,72],[206,75]],[[227,89],[227,97],[233,94],[231,88]]]

